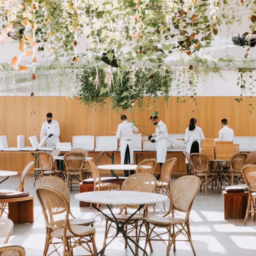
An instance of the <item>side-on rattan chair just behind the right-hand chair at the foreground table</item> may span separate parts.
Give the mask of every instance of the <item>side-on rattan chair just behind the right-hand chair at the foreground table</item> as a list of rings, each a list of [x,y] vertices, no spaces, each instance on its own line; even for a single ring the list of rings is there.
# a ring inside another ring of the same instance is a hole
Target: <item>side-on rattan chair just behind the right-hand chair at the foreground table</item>
[[[160,169],[160,180],[156,184],[156,193],[162,194],[165,196],[170,197],[170,191],[171,191],[171,175],[172,170],[175,164],[177,163],[178,159],[176,157],[172,157],[164,162]],[[161,193],[162,191],[162,193]],[[164,202],[163,202],[164,204]],[[164,204],[164,210],[165,210],[165,204]]]

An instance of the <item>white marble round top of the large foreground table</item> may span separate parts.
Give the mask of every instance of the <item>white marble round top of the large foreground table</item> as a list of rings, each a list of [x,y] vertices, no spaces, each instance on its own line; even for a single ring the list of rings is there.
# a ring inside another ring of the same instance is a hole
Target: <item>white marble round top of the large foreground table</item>
[[[75,195],[76,200],[94,204],[154,204],[168,199],[167,196],[138,191],[92,191]]]

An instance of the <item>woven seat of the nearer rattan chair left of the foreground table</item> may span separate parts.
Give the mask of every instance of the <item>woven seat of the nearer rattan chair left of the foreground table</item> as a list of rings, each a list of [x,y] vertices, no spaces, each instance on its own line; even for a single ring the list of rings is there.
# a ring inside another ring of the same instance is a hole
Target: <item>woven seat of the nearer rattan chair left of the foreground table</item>
[[[92,228],[92,227],[81,226],[81,225],[73,225],[73,226],[70,226],[70,229],[74,233],[78,234],[79,236],[88,236],[88,235],[95,234],[95,228]],[[64,228],[55,229],[51,232],[51,237],[63,238],[63,232],[64,232]],[[76,236],[73,235],[67,229],[67,237],[71,238],[71,237],[76,237]]]

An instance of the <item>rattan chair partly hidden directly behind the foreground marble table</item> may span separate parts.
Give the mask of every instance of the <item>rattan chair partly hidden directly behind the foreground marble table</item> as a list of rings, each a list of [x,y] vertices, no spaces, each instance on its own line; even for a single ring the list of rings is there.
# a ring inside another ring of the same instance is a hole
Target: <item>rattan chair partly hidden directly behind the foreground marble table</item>
[[[121,190],[154,193],[154,191],[156,189],[156,183],[157,183],[156,177],[153,176],[152,174],[135,173],[135,174],[127,177],[124,180]],[[121,211],[118,214],[115,214],[115,219],[120,224],[122,224],[129,217],[127,208],[138,209],[139,205],[121,205]],[[133,237],[137,244],[139,244],[139,240],[141,237],[140,234],[143,233],[141,231],[141,228],[142,228],[143,224],[145,224],[144,220],[147,218],[148,205],[145,205],[142,209],[143,209],[143,213],[136,213],[126,223],[127,225],[125,225],[125,232],[127,235],[131,236],[132,232],[135,231],[135,236],[133,236]],[[124,212],[124,213],[122,213],[122,212]],[[105,238],[104,238],[103,246],[105,246],[107,244],[108,238],[113,238],[115,236],[115,235],[108,236],[109,229],[111,227],[115,228],[114,226],[112,226],[112,224],[113,224],[113,222],[108,220],[108,218],[106,218],[106,229],[105,229]],[[128,228],[128,226],[129,226],[129,228]],[[144,235],[146,236],[146,234],[144,234]],[[126,242],[125,242],[125,248],[127,248]],[[137,246],[135,247],[135,254],[136,254],[136,256],[138,255],[138,247]]]

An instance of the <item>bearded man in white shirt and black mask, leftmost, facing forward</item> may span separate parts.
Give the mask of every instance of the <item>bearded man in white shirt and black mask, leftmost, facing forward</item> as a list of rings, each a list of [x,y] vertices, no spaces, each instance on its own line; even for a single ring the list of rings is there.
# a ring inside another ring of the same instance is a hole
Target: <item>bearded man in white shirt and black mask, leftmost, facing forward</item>
[[[52,113],[47,113],[47,121],[42,124],[40,141],[44,138],[45,134],[49,139],[46,142],[46,147],[56,148],[56,143],[60,142],[60,125],[59,122],[52,119]]]

